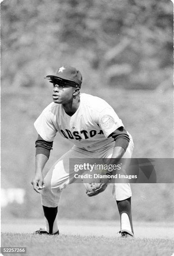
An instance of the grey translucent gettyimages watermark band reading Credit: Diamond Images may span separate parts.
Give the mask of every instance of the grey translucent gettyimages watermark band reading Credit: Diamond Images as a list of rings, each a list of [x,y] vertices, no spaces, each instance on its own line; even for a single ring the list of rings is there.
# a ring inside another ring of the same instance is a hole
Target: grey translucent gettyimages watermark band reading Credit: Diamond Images
[[[75,183],[173,183],[174,159],[70,159],[70,179]]]

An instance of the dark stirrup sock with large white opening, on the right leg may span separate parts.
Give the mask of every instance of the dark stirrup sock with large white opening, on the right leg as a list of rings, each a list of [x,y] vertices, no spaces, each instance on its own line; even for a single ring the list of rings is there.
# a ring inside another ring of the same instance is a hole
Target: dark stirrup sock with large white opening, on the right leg
[[[127,198],[126,200],[116,201],[117,206],[119,209],[120,214],[120,222],[121,222],[121,229],[122,227],[122,214],[126,213],[129,217],[129,220],[127,219],[127,222],[130,223],[131,226],[131,232],[134,234],[133,225],[132,225],[132,215],[131,215],[131,197]]]

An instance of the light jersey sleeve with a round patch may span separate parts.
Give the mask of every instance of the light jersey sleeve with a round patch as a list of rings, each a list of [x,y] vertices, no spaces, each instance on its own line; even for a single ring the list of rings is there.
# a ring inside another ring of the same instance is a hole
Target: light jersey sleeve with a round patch
[[[121,119],[111,107],[105,108],[101,111],[99,116],[99,125],[106,138],[108,138],[108,136],[119,127],[124,127]]]

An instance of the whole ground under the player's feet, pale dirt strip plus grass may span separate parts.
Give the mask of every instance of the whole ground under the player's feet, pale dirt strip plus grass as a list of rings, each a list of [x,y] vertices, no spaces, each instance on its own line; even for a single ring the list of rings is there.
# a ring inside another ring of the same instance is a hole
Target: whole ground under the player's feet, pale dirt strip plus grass
[[[134,223],[134,239],[120,238],[119,222],[59,221],[60,236],[31,233],[42,220],[9,220],[1,225],[1,246],[27,247],[30,256],[171,256],[174,253],[173,223]],[[3,254],[6,255],[6,254]]]

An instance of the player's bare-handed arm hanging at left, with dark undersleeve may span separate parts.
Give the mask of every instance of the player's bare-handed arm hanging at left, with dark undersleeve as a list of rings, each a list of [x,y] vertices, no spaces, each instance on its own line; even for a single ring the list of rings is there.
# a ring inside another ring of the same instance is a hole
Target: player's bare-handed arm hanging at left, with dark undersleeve
[[[38,135],[35,141],[36,153],[35,153],[35,176],[31,182],[33,189],[40,193],[40,189],[44,188],[43,184],[43,168],[50,156],[50,150],[52,149],[53,141],[45,141]]]

